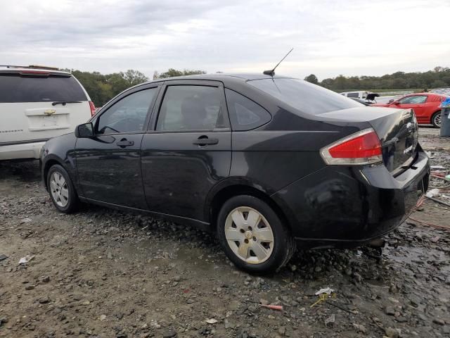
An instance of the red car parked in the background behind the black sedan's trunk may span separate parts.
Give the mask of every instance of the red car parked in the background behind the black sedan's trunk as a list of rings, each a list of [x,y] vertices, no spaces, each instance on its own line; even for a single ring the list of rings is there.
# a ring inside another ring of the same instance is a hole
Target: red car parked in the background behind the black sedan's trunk
[[[413,108],[419,124],[432,124],[441,127],[441,108],[439,108],[446,96],[433,93],[416,93],[392,101],[387,104],[373,104],[372,106],[390,108]]]

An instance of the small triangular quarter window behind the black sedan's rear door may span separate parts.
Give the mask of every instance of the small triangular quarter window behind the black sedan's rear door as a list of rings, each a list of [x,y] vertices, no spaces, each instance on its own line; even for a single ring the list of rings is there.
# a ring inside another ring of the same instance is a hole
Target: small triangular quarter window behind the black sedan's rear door
[[[271,120],[268,111],[245,96],[231,89],[225,89],[225,95],[233,130],[255,129]]]

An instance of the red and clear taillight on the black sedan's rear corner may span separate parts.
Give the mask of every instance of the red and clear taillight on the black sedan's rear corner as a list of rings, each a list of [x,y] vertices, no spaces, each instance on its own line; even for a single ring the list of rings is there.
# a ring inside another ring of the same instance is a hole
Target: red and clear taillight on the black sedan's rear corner
[[[328,165],[365,165],[383,161],[381,143],[372,128],[361,130],[321,149]]]

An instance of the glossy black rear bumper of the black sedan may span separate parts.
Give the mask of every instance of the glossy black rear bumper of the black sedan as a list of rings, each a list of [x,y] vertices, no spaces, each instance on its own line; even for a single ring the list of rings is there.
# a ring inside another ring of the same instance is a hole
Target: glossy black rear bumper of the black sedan
[[[429,161],[393,177],[384,165],[328,166],[272,195],[304,246],[355,246],[391,232],[428,188]]]

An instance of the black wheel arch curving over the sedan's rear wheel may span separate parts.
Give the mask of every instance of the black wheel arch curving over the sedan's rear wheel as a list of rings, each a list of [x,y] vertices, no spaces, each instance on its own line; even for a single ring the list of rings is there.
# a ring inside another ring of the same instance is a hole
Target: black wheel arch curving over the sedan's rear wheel
[[[261,199],[266,204],[268,204],[278,215],[283,223],[291,229],[291,223],[283,211],[283,208],[279,206],[274,199],[271,198],[269,192],[264,191],[260,187],[255,187],[255,184],[249,184],[248,182],[233,182],[231,184],[226,184],[225,186],[216,189],[214,194],[210,196],[210,201],[207,203],[206,217],[210,221],[211,230],[214,232],[216,230],[217,217],[219,215],[221,206],[234,196],[239,195],[250,195]]]

